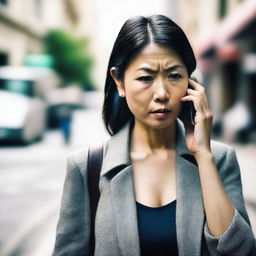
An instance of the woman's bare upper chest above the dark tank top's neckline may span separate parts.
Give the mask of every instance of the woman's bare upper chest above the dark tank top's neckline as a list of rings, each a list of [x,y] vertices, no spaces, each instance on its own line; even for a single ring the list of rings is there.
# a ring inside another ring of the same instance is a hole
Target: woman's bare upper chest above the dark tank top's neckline
[[[175,156],[151,156],[132,160],[136,201],[159,207],[176,199]]]

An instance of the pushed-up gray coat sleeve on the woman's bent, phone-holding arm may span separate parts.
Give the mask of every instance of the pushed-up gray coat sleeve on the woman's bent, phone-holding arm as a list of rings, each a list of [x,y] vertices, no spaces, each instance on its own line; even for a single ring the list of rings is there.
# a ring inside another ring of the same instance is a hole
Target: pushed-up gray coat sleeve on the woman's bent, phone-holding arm
[[[235,151],[229,148],[218,166],[219,174],[235,207],[232,223],[219,237],[211,236],[207,223],[204,235],[211,256],[256,255],[256,241],[245,209],[240,168]]]

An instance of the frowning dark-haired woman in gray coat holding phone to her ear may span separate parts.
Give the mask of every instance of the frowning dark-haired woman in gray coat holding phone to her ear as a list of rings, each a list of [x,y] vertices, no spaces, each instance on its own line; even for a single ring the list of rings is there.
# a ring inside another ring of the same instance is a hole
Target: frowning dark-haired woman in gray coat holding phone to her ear
[[[95,255],[256,255],[236,155],[210,139],[213,116],[190,79],[195,68],[184,32],[167,17],[138,16],[121,28],[105,83],[111,138]],[[89,255],[86,155],[68,160],[53,255]]]

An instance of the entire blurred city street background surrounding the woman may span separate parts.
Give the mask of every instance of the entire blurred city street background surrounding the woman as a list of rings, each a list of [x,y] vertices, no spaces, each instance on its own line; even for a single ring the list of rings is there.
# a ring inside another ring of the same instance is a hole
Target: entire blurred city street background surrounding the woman
[[[214,114],[236,149],[256,235],[256,1],[0,0],[0,255],[50,255],[66,157],[108,138],[108,57],[132,15],[164,14],[187,34]]]

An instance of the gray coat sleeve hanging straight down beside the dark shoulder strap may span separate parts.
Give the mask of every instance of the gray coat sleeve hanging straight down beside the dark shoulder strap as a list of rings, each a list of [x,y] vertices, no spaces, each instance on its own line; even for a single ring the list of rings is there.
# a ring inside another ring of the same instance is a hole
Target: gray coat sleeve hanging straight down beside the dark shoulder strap
[[[68,157],[52,256],[89,255],[90,206],[88,188],[85,186],[87,175],[83,175],[86,166],[85,151]]]

